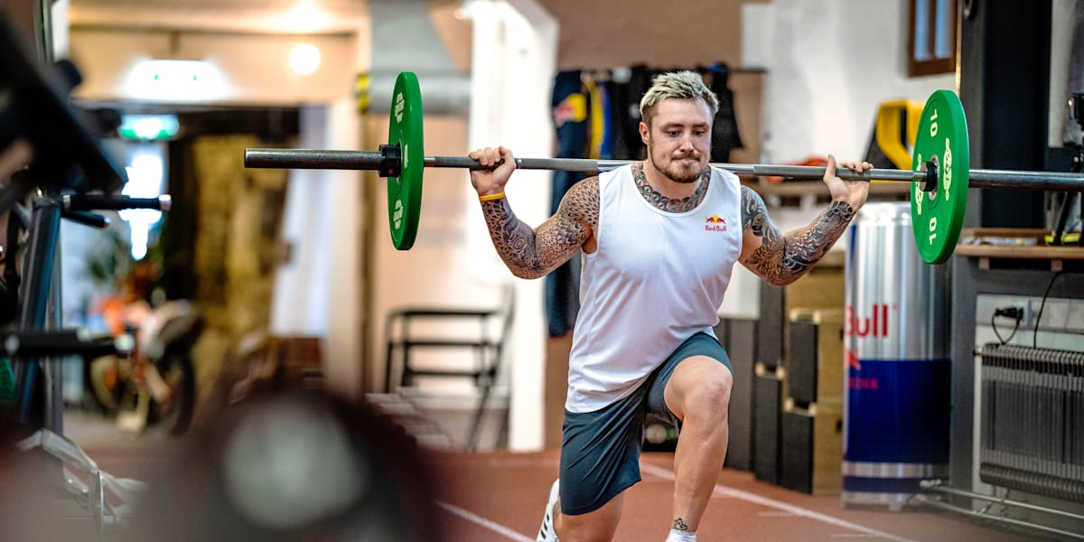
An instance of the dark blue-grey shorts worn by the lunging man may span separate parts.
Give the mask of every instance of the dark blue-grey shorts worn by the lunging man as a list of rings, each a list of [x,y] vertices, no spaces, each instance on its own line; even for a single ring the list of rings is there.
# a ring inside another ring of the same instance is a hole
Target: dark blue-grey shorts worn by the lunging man
[[[640,450],[648,413],[678,423],[662,392],[682,360],[707,356],[732,373],[726,350],[706,333],[693,335],[628,397],[594,412],[565,411],[560,444],[560,512],[586,514],[640,481]]]

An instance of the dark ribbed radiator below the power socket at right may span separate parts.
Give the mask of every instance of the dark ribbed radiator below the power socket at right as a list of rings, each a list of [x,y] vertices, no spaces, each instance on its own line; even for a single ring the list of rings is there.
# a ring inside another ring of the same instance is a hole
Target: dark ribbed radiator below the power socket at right
[[[988,344],[979,356],[982,481],[1084,502],[1084,352]]]

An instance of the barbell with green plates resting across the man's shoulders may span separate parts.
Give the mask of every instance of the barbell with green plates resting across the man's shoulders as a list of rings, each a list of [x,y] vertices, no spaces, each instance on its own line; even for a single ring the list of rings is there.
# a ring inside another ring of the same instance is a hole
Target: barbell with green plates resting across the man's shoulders
[[[588,158],[516,158],[518,169],[605,171],[631,160]],[[817,179],[825,168],[814,166],[712,164],[739,177],[778,176]],[[245,167],[287,169],[375,170],[388,183],[388,222],[391,242],[400,250],[410,249],[417,234],[422,207],[422,171],[426,167],[485,169],[465,156],[425,156],[422,137],[422,92],[417,77],[399,74],[392,90],[388,144],[379,151],[334,151],[301,149],[246,149]],[[913,170],[868,169],[863,173],[837,171],[847,180],[883,180],[913,183],[912,229],[922,259],[943,263],[952,256],[964,229],[967,193],[970,186],[1084,191],[1084,176],[1051,171],[970,169],[967,119],[955,92],[934,91],[922,108]]]

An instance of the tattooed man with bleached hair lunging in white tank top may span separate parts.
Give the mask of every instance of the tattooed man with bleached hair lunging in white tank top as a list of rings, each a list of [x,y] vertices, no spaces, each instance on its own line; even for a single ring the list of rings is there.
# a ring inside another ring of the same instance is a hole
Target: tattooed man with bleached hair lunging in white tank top
[[[578,182],[532,229],[504,197],[516,159],[504,147],[469,157],[493,246],[534,279],[582,250],[582,306],[572,333],[558,481],[538,540],[610,540],[625,489],[640,481],[644,416],[678,423],[669,542],[695,541],[728,439],[733,373],[712,333],[735,261],[784,285],[831,248],[862,207],[866,181],[824,173],[833,201],[783,234],[761,197],[710,167],[719,101],[693,72],[658,77],[641,101],[647,158]],[[868,163],[844,162],[862,173]]]

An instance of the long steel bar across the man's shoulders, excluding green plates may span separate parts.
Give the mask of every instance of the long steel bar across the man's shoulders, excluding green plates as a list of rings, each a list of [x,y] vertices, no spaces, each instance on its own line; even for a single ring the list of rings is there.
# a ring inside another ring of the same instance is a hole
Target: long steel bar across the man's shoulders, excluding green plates
[[[305,149],[246,149],[245,167],[275,169],[379,169],[384,157],[376,151],[334,151]],[[426,156],[425,167],[488,169],[466,156]],[[545,169],[551,171],[605,171],[630,164],[631,160],[602,160],[592,158],[516,158],[518,169]],[[791,177],[820,179],[825,168],[816,166],[779,166],[763,164],[712,164],[739,177]],[[921,182],[922,171],[906,169],[867,169],[854,173],[846,168],[836,171],[841,179]],[[1051,171],[1016,171],[1008,169],[972,169],[970,186],[979,189],[1022,189],[1084,191],[1084,176]]]

